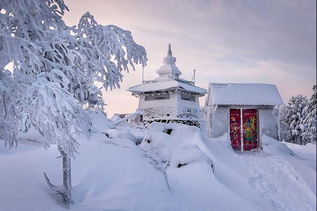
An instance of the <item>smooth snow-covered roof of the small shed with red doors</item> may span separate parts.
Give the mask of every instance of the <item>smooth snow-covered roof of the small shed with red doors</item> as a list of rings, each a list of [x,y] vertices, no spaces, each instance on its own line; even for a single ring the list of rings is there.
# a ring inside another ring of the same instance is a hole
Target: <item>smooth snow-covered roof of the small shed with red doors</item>
[[[206,106],[283,104],[274,84],[210,83],[206,99]]]

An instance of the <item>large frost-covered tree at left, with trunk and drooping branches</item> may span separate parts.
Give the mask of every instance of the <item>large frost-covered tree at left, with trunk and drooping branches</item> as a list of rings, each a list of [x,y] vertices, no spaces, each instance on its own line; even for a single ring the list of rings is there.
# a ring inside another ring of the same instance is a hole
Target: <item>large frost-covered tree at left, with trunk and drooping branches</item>
[[[131,32],[102,26],[86,13],[78,26],[62,20],[63,0],[1,0],[0,3],[0,139],[17,146],[16,134],[31,126],[57,144],[63,159],[63,185],[52,185],[63,203],[71,198],[71,157],[89,137],[83,106],[102,108],[103,88],[119,87],[121,71],[133,63],[146,65],[145,49]],[[7,65],[13,69],[8,70]]]

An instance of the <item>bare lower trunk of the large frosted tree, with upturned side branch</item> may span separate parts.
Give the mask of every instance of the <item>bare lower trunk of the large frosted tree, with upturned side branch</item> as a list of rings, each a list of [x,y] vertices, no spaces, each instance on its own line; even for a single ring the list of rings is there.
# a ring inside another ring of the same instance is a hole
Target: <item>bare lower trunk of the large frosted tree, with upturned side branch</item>
[[[46,173],[44,173],[45,180],[50,189],[59,193],[62,196],[63,203],[65,205],[73,204],[72,199],[72,178],[71,178],[71,156],[63,151],[63,149],[58,146],[58,151],[63,159],[63,185],[56,186],[50,183]]]

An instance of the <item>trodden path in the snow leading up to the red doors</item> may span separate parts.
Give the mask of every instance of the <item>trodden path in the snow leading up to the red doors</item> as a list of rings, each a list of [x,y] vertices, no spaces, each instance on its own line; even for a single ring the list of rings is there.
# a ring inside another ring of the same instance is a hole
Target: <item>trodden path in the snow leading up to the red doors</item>
[[[284,157],[264,152],[237,154],[255,175],[248,178],[249,184],[259,190],[263,198],[270,200],[274,210],[316,210],[316,206],[310,206],[311,200],[316,200],[310,187]],[[299,192],[299,189],[303,191]]]

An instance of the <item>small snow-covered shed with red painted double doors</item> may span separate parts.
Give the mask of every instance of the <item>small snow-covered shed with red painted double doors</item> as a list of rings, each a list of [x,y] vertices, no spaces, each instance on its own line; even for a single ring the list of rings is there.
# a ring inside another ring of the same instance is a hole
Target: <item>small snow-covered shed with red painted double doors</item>
[[[230,134],[234,150],[261,147],[266,134],[279,140],[278,106],[283,100],[274,84],[210,83],[206,98],[207,134]]]

